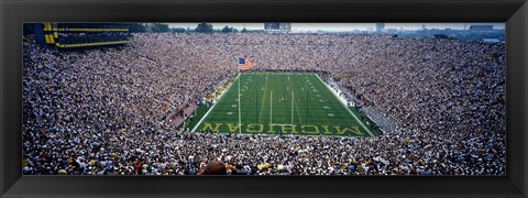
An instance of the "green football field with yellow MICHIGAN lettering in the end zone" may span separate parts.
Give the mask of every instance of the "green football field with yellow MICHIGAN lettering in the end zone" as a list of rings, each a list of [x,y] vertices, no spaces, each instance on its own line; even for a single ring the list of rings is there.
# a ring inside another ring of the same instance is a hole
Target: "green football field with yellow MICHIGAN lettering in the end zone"
[[[197,119],[197,124],[189,125],[193,131],[344,136],[382,134],[372,127],[372,121],[346,107],[316,74],[309,73],[242,73],[219,101]]]

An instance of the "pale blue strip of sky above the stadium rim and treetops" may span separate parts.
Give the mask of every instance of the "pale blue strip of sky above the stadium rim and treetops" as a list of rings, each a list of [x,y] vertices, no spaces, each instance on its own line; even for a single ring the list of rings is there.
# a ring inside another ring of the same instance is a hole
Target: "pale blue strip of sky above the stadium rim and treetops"
[[[422,25],[426,29],[470,29],[471,25],[493,25],[493,29],[504,30],[505,23],[385,23],[385,29],[397,30],[420,30]],[[168,23],[170,28],[195,29],[198,23]],[[263,30],[264,23],[212,23],[213,29],[222,29],[226,25],[238,30]],[[315,32],[315,31],[370,31],[376,30],[376,23],[292,23],[294,32]]]

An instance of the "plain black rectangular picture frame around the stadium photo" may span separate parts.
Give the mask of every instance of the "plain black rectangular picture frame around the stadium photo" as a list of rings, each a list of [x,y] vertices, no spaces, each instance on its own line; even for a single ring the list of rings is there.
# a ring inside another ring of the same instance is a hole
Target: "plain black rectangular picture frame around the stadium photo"
[[[526,0],[1,0],[1,197],[528,195]],[[22,176],[23,22],[506,22],[506,176]]]

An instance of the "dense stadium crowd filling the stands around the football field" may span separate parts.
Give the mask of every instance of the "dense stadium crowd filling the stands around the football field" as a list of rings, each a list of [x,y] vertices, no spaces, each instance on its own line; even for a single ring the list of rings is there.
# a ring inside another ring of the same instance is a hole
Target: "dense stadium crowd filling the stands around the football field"
[[[351,34],[139,33],[120,47],[24,42],[24,175],[505,175],[505,46]],[[237,70],[318,69],[399,118],[375,138],[180,131],[164,116]]]

